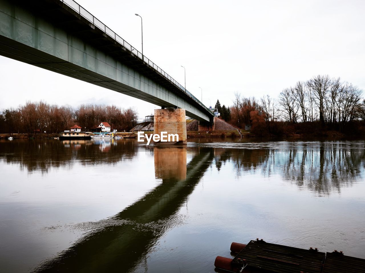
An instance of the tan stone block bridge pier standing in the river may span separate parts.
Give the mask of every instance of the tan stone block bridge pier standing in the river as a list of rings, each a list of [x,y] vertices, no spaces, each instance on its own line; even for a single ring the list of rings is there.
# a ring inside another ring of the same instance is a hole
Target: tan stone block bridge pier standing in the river
[[[187,144],[185,109],[155,109],[153,134],[161,136],[161,132],[177,134],[179,141],[154,142],[155,144]],[[172,140],[172,138],[170,139]]]

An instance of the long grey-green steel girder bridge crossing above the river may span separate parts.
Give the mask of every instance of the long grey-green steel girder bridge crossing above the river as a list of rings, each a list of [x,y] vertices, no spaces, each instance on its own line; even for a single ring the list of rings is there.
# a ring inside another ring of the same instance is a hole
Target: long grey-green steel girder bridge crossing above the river
[[[0,55],[153,103],[163,110],[156,115],[177,124],[185,114],[202,126],[214,120],[181,84],[73,0],[0,0]],[[162,131],[184,135],[159,122]]]

